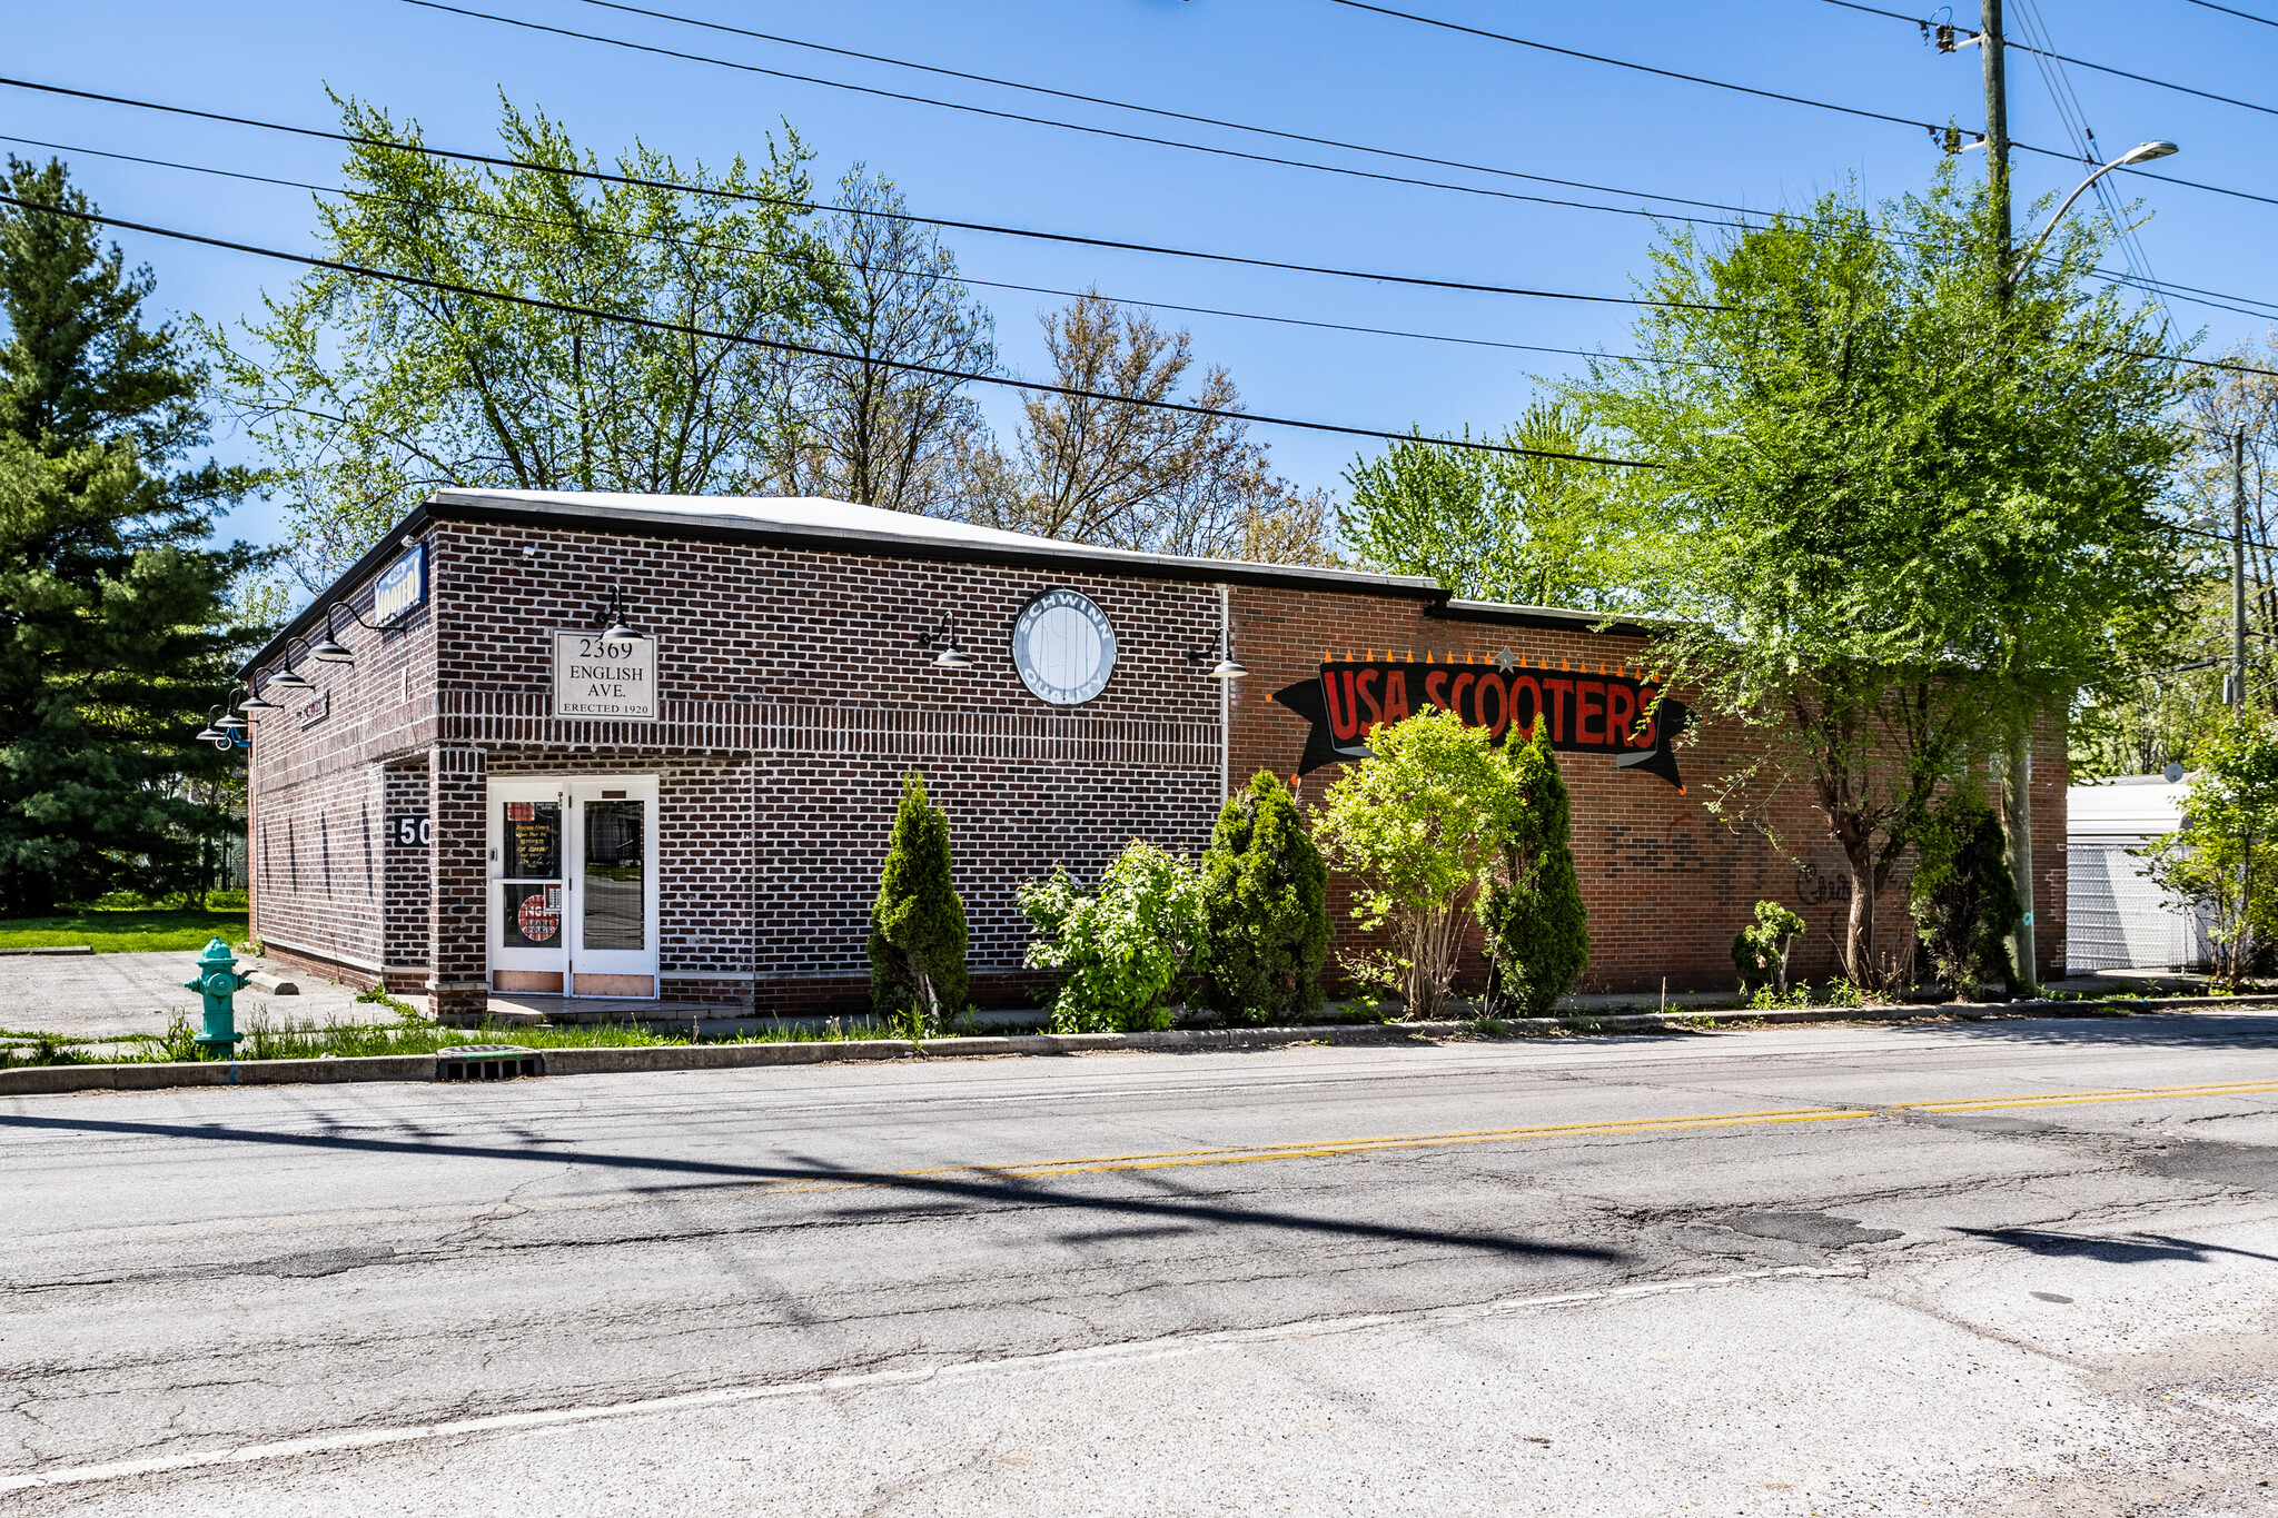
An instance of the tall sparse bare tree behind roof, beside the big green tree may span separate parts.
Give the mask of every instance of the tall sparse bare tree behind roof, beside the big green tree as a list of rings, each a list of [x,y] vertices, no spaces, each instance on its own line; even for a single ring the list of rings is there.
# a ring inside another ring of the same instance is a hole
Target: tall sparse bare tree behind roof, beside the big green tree
[[[925,517],[957,514],[957,460],[980,432],[966,382],[911,373],[995,369],[995,321],[968,298],[936,228],[904,221],[893,180],[857,164],[825,237],[843,291],[822,325],[852,357],[797,360],[784,419],[784,485]]]

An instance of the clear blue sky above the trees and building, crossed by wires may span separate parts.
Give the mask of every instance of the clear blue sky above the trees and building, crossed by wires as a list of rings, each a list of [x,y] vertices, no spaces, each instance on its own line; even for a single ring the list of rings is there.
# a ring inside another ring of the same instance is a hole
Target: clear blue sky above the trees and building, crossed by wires
[[[1570,193],[1050,102],[888,64],[697,32],[581,0],[465,2],[847,84],[1472,187]],[[1936,162],[1916,127],[1460,36],[1330,0],[649,2],[802,41],[1137,105],[1750,207],[1800,205],[1850,178],[1868,196],[1891,196],[1920,187]],[[2257,7],[2278,18],[2278,0],[2235,5]],[[538,36],[403,0],[207,0],[196,7],[11,0],[7,9],[5,73],[16,77],[317,127],[333,125],[323,96],[330,84],[399,118],[417,116],[431,143],[474,150],[497,141],[503,91],[560,116],[579,143],[604,157],[638,134],[683,162],[713,164],[754,150],[765,132],[779,130],[779,118],[788,118],[818,150],[816,171],[825,182],[857,159],[868,162],[902,184],[916,212],[959,221],[1576,294],[1624,294],[1654,237],[1652,223],[1631,214],[1383,184],[991,121]],[[1829,0],[1752,7],[1408,0],[1394,9],[1909,121],[1952,118],[1975,127],[1984,118],[1975,50],[1939,55],[1911,23]],[[1918,2],[1882,0],[1879,9],[1911,16]],[[2011,0],[2011,16],[2016,9]],[[2271,82],[2278,27],[2189,0],[2041,0],[2039,16],[2059,52],[2278,107]],[[1955,18],[1975,23],[1975,7],[1961,7]],[[2155,171],[2278,196],[2278,178],[2269,173],[2278,116],[2084,68],[2071,68],[2068,82],[2109,152],[2146,137],[2173,139],[2182,155]],[[2016,139],[2066,146],[2050,91],[2023,55],[2011,55],[2009,93]],[[337,150],[319,141],[16,89],[0,89],[0,134],[337,182]],[[0,148],[46,157],[46,150],[16,143]],[[87,152],[66,157],[75,182],[109,214],[314,250],[303,191]],[[1977,155],[1966,162],[1975,171]],[[2025,200],[2062,193],[2073,182],[2071,164],[2018,157]],[[2160,280],[2244,296],[2271,284],[2278,205],[2148,180],[2128,180],[2128,193],[2155,212],[2141,248]],[[1574,198],[1647,205],[1622,196]],[[164,307],[210,319],[251,312],[262,289],[276,291],[292,280],[289,269],[237,253],[139,234],[121,241],[132,257],[155,266]],[[1620,348],[1629,325],[1617,305],[1396,289],[986,234],[952,234],[950,241],[973,278],[1052,289],[1096,284],[1132,300],[1551,348]],[[1041,373],[1036,312],[1057,300],[980,294],[998,314],[1005,362]],[[2180,300],[2171,310],[2187,332],[2205,328],[2210,346],[2264,339],[2267,323],[2253,316]],[[1492,430],[1526,403],[1535,376],[1576,362],[1228,316],[1164,319],[1194,328],[1198,357],[1226,364],[1251,410],[1353,426]],[[984,405],[1000,426],[1014,414],[1005,394],[986,396]],[[1262,437],[1271,439],[1283,473],[1305,485],[1337,487],[1355,451],[1351,442],[1303,432],[1262,430]],[[221,453],[241,457],[244,446],[226,435]],[[226,530],[264,542],[276,533],[273,508],[248,505]]]

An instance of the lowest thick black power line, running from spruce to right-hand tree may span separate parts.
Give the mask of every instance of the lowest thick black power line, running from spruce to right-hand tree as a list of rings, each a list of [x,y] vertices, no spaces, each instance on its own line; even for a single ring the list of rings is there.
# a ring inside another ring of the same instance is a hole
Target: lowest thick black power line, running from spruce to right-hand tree
[[[255,257],[271,257],[271,259],[280,259],[285,264],[301,264],[303,269],[330,269],[333,273],[346,273],[346,275],[355,275],[355,278],[362,278],[362,280],[385,280],[390,284],[410,284],[410,287],[417,287],[417,289],[435,289],[435,291],[444,291],[444,294],[453,294],[453,296],[474,296],[476,300],[499,300],[503,305],[519,305],[519,307],[538,310],[538,312],[558,312],[563,316],[585,316],[590,321],[615,321],[615,323],[622,323],[622,325],[647,328],[652,332],[672,332],[672,335],[679,335],[679,337],[699,337],[699,339],[708,339],[708,341],[745,344],[745,346],[752,346],[752,348],[768,348],[772,353],[797,353],[797,355],[804,355],[804,357],[822,357],[822,360],[845,360],[845,362],[859,362],[859,364],[877,364],[879,369],[898,369],[902,373],[923,373],[923,376],[932,376],[936,380],[961,380],[961,382],[970,382],[970,385],[1002,385],[1007,389],[1041,391],[1041,394],[1050,394],[1050,396],[1066,396],[1071,401],[1105,401],[1105,403],[1112,403],[1112,405],[1137,405],[1137,407],[1150,410],[1150,412],[1178,412],[1182,416],[1212,416],[1212,419],[1221,419],[1221,421],[1255,423],[1255,426],[1267,426],[1267,428],[1298,428],[1298,430],[1305,430],[1305,432],[1337,432],[1342,437],[1376,437],[1376,439],[1383,439],[1383,442],[1431,442],[1431,444],[1437,444],[1437,446],[1444,446],[1444,448],[1469,448],[1474,453],[1508,453],[1508,455],[1517,455],[1517,457],[1547,457],[1547,460],[1558,460],[1558,462],[1565,462],[1565,464],[1611,464],[1611,467],[1620,467],[1620,469],[1661,469],[1661,464],[1652,464],[1652,462],[1645,462],[1645,460],[1599,457],[1595,453],[1558,453],[1554,448],[1519,448],[1515,444],[1490,444],[1490,442],[1451,439],[1451,437],[1424,437],[1424,439],[1419,439],[1415,430],[1408,430],[1408,432],[1385,432],[1380,428],[1349,428],[1349,426],[1339,426],[1339,423],[1333,423],[1333,421],[1298,421],[1298,419],[1292,419],[1292,416],[1260,416],[1255,412],[1228,412],[1228,410],[1212,407],[1212,405],[1189,405],[1185,401],[1144,401],[1144,398],[1137,398],[1137,396],[1116,396],[1116,394],[1109,394],[1109,391],[1080,389],[1080,387],[1073,387],[1073,385],[1048,385],[1043,380],[1014,380],[1014,378],[1000,376],[1000,373],[975,373],[975,371],[968,371],[968,369],[945,369],[941,364],[913,364],[913,362],[907,362],[907,360],[866,357],[861,353],[843,353],[838,348],[818,348],[813,344],[795,344],[795,341],[786,341],[786,339],[777,339],[777,337],[749,337],[745,332],[715,332],[711,328],[690,325],[686,321],[658,321],[656,316],[633,316],[629,312],[604,312],[604,310],[597,310],[597,307],[590,307],[590,305],[570,305],[565,300],[542,300],[538,296],[515,296],[515,294],[508,294],[508,291],[501,291],[501,289],[474,289],[472,284],[451,284],[449,280],[433,280],[433,278],[417,275],[417,273],[396,273],[396,271],[390,271],[390,269],[367,269],[362,264],[344,264],[339,259],[312,257],[308,253],[282,253],[278,248],[262,248],[262,246],[255,246],[255,244],[239,244],[239,241],[228,241],[228,239],[221,239],[221,237],[200,237],[198,232],[178,232],[173,228],[155,228],[155,225],[148,225],[148,223],[123,221],[118,216],[100,216],[96,212],[82,212],[82,209],[75,209],[75,207],[46,205],[46,203],[39,203],[39,200],[23,200],[18,196],[0,196],[0,205],[14,205],[14,207],[25,209],[25,212],[48,212],[50,216],[68,216],[73,221],[84,221],[84,223],[103,225],[103,228],[116,228],[116,230],[123,230],[123,232],[146,232],[150,237],[171,237],[175,241],[200,244],[205,248],[226,248],[230,253],[251,253]]]

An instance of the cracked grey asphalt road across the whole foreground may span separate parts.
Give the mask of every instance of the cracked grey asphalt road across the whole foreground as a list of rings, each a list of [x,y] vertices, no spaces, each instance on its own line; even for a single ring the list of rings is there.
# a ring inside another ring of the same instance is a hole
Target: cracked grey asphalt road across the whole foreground
[[[2278,1020],[0,1102],[7,1513],[2269,1513]]]

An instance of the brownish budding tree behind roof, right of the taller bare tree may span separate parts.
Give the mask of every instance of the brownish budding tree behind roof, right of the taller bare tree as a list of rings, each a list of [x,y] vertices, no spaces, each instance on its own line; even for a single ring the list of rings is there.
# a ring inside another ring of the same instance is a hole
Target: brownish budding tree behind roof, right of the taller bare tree
[[[1043,341],[1052,382],[1087,396],[1030,394],[1014,453],[991,439],[968,444],[973,521],[1150,553],[1335,562],[1328,498],[1271,471],[1267,446],[1232,414],[1242,396],[1226,369],[1212,366],[1194,394],[1178,394],[1194,366],[1185,330],[1164,332],[1091,291],[1046,312]],[[1128,401],[1185,401],[1216,414]]]

